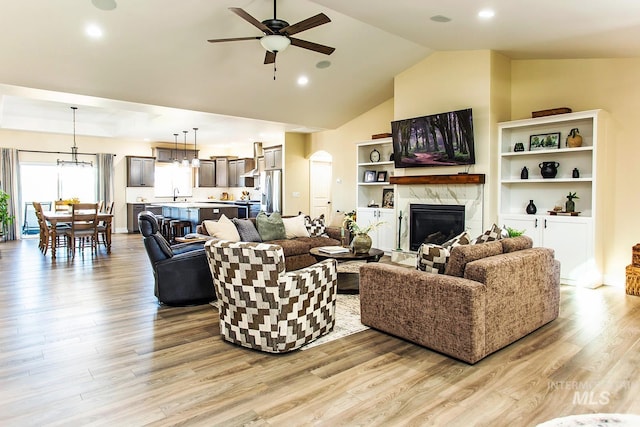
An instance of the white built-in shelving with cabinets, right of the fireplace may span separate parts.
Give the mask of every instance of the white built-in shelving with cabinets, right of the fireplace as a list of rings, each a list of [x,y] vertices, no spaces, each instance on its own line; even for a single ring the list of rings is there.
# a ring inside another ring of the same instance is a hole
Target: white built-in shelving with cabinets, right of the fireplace
[[[600,147],[606,146],[606,113],[591,110],[559,114],[535,119],[500,123],[499,134],[499,197],[498,212],[501,224],[525,230],[535,246],[555,249],[561,262],[561,281],[587,287],[602,284],[602,256],[600,242],[601,221],[598,209],[602,191],[597,185],[601,170]],[[578,128],[582,146],[569,148],[565,140],[571,129]],[[532,135],[560,133],[558,148],[530,150]],[[525,151],[514,151],[522,143]],[[542,162],[557,162],[555,178],[543,178]],[[522,179],[523,168],[528,179]],[[573,171],[579,178],[573,178]],[[550,215],[555,207],[564,210],[566,196],[577,193],[577,216]],[[533,201],[535,214],[527,214]]]

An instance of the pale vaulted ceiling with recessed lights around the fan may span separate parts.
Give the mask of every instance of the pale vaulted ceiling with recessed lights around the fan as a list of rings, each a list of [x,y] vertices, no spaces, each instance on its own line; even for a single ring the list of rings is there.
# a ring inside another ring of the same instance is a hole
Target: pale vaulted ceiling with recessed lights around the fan
[[[483,6],[495,16],[478,17]],[[325,13],[330,23],[295,37],[336,50],[290,46],[274,80],[257,40],[207,43],[261,35],[229,7],[273,17],[272,0],[3,2],[0,127],[68,133],[76,105],[81,134],[171,141],[198,127],[202,143],[269,140],[340,126],[392,97],[393,77],[435,50],[640,56],[636,0],[278,0],[290,24]],[[103,36],[86,36],[89,24]]]

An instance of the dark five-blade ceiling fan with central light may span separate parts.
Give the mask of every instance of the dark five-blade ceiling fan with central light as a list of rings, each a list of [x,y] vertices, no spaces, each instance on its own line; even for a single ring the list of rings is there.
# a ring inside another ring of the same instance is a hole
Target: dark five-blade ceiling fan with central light
[[[230,11],[258,28],[264,35],[257,37],[234,37],[228,39],[212,39],[207,40],[209,43],[230,42],[239,40],[260,40],[260,44],[267,50],[264,57],[265,64],[275,64],[276,54],[285,50],[290,44],[301,47],[303,49],[312,50],[314,52],[331,55],[335,48],[324,46],[318,43],[291,37],[293,34],[315,28],[319,25],[331,22],[331,19],[324,13],[319,13],[311,18],[304,19],[296,24],[289,25],[287,21],[276,18],[276,0],[273,0],[273,19],[266,19],[262,22],[258,21],[249,13],[239,7],[230,7]],[[275,78],[275,76],[274,76]]]

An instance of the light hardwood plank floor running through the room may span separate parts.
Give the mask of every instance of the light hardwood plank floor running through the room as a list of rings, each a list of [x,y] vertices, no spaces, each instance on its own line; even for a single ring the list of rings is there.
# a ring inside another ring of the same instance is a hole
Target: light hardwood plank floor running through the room
[[[476,365],[367,330],[307,351],[223,342],[157,304],[139,235],[97,256],[0,243],[0,425],[530,426],[640,413],[640,297],[562,287],[560,318]]]

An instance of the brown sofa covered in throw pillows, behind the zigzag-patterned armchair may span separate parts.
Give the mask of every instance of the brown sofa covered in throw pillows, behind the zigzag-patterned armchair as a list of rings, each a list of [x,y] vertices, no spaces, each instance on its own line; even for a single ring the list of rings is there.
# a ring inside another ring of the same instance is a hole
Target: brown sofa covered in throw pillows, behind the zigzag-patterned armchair
[[[250,219],[255,225],[255,218]],[[196,233],[199,236],[209,236],[209,233],[207,233],[206,228],[202,224],[196,227]],[[326,227],[325,233],[329,237],[295,237],[293,239],[270,240],[265,243],[281,246],[284,251],[286,270],[294,271],[309,267],[318,262],[309,254],[311,248],[340,245],[340,227]]]

